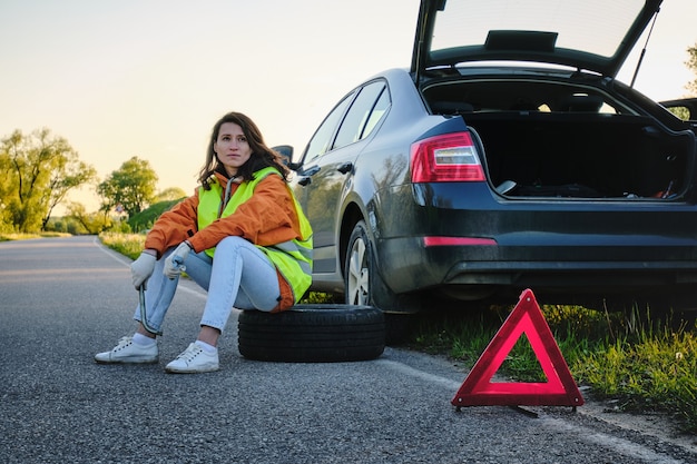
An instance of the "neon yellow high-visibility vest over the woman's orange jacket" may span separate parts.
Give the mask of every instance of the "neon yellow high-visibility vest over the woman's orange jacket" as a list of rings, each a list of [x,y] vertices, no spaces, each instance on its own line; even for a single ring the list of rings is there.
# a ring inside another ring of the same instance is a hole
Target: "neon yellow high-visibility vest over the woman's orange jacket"
[[[252,198],[254,189],[266,176],[277,175],[281,172],[274,167],[266,167],[254,172],[254,179],[242,182],[229,201],[225,206],[225,209],[220,213],[222,198],[225,187],[222,186],[217,178],[213,178],[210,181],[210,190],[206,190],[203,187],[198,189],[198,230],[203,230],[214,220],[219,217],[227,217],[235,213],[235,210],[243,203]],[[312,227],[310,221],[305,217],[303,209],[301,208],[291,186],[286,184],[288,195],[293,198],[295,205],[295,213],[301,226],[301,238],[284,241],[276,245],[259,246],[256,245],[268,258],[272,260],[276,269],[288,282],[293,289],[293,297],[295,303],[305,294],[310,284],[312,283]],[[214,257],[215,247],[208,248],[206,254]]]

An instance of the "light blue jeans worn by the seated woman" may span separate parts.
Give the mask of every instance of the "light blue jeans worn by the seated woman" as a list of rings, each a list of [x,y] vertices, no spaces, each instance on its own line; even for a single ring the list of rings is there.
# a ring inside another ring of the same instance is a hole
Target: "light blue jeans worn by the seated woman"
[[[164,274],[168,249],[155,264],[148,279],[145,306],[149,325],[159,330],[177,290],[179,277],[168,279]],[[189,254],[186,274],[208,292],[200,325],[223,332],[233,307],[272,310],[278,304],[281,290],[276,268],[257,247],[240,237],[226,237],[215,249],[215,259],[204,251]],[[140,304],[134,318],[140,322]]]

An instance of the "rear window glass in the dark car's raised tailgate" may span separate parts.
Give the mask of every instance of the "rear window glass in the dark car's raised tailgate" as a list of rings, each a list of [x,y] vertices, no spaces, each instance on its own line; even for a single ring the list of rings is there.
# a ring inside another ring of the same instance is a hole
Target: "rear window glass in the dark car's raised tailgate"
[[[662,0],[421,0],[412,72],[481,61],[616,77]]]

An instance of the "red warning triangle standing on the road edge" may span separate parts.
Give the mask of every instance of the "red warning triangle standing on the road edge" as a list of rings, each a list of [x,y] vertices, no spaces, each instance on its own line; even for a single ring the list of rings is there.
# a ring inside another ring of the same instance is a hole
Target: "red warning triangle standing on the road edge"
[[[547,382],[491,382],[518,339],[526,334]],[[583,397],[532,290],[520,295],[484,353],[451,402],[454,406],[580,406]]]

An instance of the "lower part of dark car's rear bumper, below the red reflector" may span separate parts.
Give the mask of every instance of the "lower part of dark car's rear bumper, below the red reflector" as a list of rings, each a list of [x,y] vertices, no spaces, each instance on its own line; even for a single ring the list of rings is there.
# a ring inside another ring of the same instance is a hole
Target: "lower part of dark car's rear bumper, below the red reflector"
[[[459,299],[504,298],[524,288],[554,302],[697,296],[697,247],[433,246],[422,238],[383,240],[379,267],[396,294],[434,290]],[[695,299],[697,305],[697,299]]]

